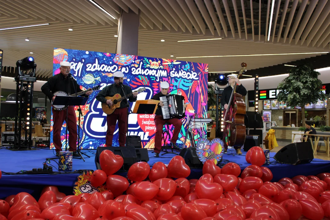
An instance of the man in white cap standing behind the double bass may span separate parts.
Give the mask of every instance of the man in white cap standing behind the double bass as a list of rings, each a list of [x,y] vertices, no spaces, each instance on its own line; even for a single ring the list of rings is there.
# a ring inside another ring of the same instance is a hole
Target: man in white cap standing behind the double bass
[[[222,92],[222,96],[221,96],[221,101],[220,101],[221,105],[224,107],[225,110],[227,110],[227,108],[228,108],[228,103],[229,103],[235,82],[237,83],[235,92],[241,94],[242,96],[247,95],[247,90],[245,89],[245,87],[242,85],[242,83],[240,82],[240,80],[237,78],[237,76],[235,74],[230,74],[227,77],[228,77],[229,86],[224,88],[224,90]],[[228,120],[229,114],[227,114],[226,116],[227,117],[224,118],[224,121]],[[225,148],[224,151],[227,152],[228,146],[227,146],[227,143],[225,140],[225,135],[223,135],[223,142],[224,142],[224,148]],[[234,148],[235,148],[237,154],[242,154],[241,147],[234,146]]]

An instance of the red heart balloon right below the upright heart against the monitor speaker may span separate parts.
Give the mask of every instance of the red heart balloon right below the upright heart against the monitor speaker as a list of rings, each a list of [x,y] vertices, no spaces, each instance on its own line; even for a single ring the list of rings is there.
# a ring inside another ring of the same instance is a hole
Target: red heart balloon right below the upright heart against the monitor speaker
[[[122,195],[129,186],[128,180],[125,177],[119,175],[108,176],[106,183],[107,189],[114,194],[115,198]]]

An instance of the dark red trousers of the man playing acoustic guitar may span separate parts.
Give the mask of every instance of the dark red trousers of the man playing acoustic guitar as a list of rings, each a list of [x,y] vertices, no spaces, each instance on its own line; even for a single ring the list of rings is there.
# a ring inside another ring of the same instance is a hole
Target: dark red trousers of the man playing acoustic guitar
[[[118,120],[119,129],[119,146],[124,147],[126,143],[126,125],[127,125],[127,108],[115,109],[112,114],[107,115],[107,136],[106,145],[107,147],[112,146],[112,139],[114,138],[114,132],[116,128],[116,123]]]

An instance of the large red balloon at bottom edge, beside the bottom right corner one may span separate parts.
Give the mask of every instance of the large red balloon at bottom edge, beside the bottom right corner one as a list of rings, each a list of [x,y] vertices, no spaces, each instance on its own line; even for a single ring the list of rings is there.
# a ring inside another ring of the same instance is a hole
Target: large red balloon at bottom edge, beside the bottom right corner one
[[[318,202],[310,199],[301,199],[298,201],[303,209],[303,215],[311,220],[321,220],[324,217],[324,211]]]

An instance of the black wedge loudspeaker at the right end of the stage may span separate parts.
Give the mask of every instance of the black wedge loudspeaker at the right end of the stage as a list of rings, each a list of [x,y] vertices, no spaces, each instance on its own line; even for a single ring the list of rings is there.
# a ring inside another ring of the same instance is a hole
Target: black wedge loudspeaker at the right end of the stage
[[[313,147],[310,142],[290,143],[279,150],[274,159],[281,164],[306,164],[314,159]]]

